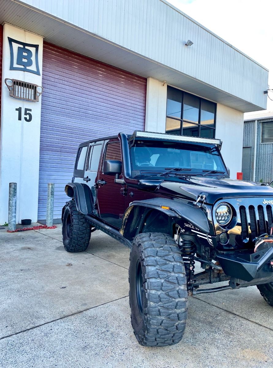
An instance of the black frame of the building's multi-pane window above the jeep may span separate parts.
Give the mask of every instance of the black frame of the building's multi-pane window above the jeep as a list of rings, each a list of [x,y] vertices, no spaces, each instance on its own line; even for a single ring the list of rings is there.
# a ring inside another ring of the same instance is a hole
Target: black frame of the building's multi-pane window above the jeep
[[[174,117],[174,116],[171,116],[171,115],[167,115],[167,105],[168,105],[168,88],[173,88],[177,91],[179,91],[181,93],[181,117],[180,118],[177,118],[177,117]],[[184,94],[187,93],[188,95],[191,95],[191,96],[195,96],[196,98],[199,99],[199,113],[198,113],[198,124],[196,123],[192,123],[192,121],[189,121],[189,120],[186,120],[186,119],[183,119],[183,113],[184,113]],[[202,101],[208,101],[208,102],[211,102],[214,104],[214,119],[213,119],[213,127],[207,127],[207,129],[213,129],[214,130],[214,134],[213,134],[213,138],[215,138],[215,131],[216,131],[216,112],[217,112],[217,103],[213,102],[213,101],[210,101],[210,100],[207,100],[205,98],[202,98],[202,97],[199,97],[199,96],[196,96],[194,95],[193,93],[189,93],[189,92],[185,92],[185,91],[182,91],[182,89],[179,89],[179,88],[175,88],[173,86],[170,86],[170,85],[167,85],[167,103],[166,103],[166,123],[167,123],[167,118],[169,119],[173,119],[173,120],[176,120],[176,121],[180,121],[180,133],[179,135],[183,135],[183,121],[185,121],[185,123],[189,123],[189,124],[194,124],[196,125],[196,127],[198,127],[198,137],[201,137],[200,134],[201,134],[201,127],[205,127],[204,125],[201,124],[201,108],[202,108]],[[168,133],[169,131],[166,130],[166,123],[165,123],[165,132]],[[206,127],[205,127],[206,128]],[[185,128],[184,128],[185,129]],[[171,134],[171,133],[169,133]],[[178,135],[178,134],[174,134],[174,135]]]

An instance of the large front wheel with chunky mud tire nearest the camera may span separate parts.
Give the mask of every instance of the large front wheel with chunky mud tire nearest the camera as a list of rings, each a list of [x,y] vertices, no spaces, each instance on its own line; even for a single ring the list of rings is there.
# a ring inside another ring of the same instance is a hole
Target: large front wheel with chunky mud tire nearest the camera
[[[187,280],[174,239],[162,233],[138,234],[129,268],[131,323],[139,344],[167,346],[184,334]]]

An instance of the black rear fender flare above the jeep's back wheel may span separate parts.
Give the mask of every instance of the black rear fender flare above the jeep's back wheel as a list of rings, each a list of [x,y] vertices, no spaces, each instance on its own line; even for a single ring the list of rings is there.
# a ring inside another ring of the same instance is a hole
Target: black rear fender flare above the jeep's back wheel
[[[83,215],[90,215],[94,210],[94,201],[91,189],[86,184],[68,183],[65,185],[65,193],[75,199],[76,207]]]

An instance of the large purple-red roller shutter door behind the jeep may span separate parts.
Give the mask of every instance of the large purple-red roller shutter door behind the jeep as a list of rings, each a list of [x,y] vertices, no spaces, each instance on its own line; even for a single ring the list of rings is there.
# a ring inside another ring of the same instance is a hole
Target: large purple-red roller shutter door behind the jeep
[[[79,143],[144,130],[146,78],[50,43],[43,45],[38,219],[47,183],[55,183],[54,218],[68,197]]]

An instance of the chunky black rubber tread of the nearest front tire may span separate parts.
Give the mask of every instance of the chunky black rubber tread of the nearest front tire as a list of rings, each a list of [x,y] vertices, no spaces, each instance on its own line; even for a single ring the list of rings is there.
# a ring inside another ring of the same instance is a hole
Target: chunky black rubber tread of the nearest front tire
[[[143,310],[146,330],[141,333],[134,330],[136,339],[143,346],[176,344],[184,334],[188,309],[187,280],[181,252],[168,234],[138,234],[134,244],[139,247],[145,264],[144,285],[148,300],[148,306]],[[131,296],[129,300],[131,307]]]

